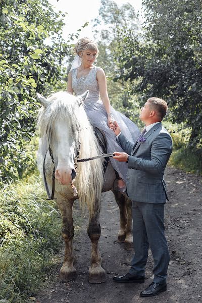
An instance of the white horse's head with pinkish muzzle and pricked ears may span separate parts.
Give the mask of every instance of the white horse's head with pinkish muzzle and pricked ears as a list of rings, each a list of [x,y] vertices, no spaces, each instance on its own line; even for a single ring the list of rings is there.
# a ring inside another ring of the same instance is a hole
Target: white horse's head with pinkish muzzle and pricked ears
[[[40,94],[37,99],[43,106],[39,115],[39,129],[46,146],[51,148],[55,161],[55,177],[62,185],[76,177],[75,157],[79,152],[81,104],[88,91],[79,97],[68,92],[57,92],[48,98]]]

